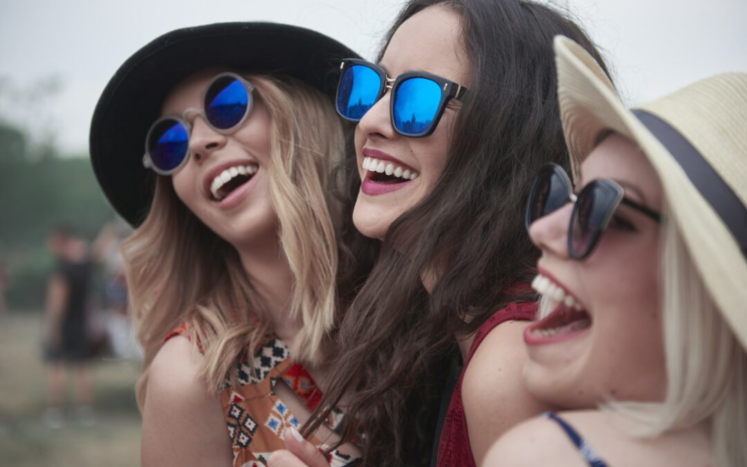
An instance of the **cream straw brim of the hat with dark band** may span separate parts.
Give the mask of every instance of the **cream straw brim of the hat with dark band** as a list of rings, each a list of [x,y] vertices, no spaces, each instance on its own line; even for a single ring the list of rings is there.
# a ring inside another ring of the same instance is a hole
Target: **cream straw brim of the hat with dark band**
[[[566,37],[556,37],[554,48],[560,115],[574,179],[578,179],[580,165],[594,149],[601,131],[612,130],[633,140],[660,179],[668,221],[677,224],[710,297],[747,348],[743,312],[747,262],[736,239],[660,140],[622,105],[609,79],[589,55]]]

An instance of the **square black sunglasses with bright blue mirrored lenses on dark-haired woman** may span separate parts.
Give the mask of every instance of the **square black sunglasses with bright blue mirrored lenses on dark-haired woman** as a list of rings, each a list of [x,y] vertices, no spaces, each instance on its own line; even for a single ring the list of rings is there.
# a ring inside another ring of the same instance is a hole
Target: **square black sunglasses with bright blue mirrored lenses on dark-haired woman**
[[[345,120],[359,122],[391,89],[391,125],[398,134],[424,137],[433,133],[451,99],[461,102],[467,88],[427,72],[389,78],[376,64],[346,58],[340,64],[335,108]]]

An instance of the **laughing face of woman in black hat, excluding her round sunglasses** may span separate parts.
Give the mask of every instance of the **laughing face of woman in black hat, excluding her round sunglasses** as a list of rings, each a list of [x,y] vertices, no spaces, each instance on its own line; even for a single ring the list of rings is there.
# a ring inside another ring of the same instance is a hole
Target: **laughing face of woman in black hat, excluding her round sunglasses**
[[[200,72],[176,86],[163,115],[201,108],[202,95],[217,72]],[[276,239],[276,214],[267,189],[270,114],[255,90],[247,119],[235,131],[214,131],[196,113],[185,165],[172,176],[187,208],[213,232],[238,249],[266,246]]]

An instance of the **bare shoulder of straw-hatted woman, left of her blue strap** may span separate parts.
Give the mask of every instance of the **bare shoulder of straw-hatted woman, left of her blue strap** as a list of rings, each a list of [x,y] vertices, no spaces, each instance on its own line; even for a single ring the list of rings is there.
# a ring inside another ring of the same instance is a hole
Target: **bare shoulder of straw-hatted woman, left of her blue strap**
[[[483,466],[582,467],[580,454],[553,421],[532,418],[508,430],[493,444]]]

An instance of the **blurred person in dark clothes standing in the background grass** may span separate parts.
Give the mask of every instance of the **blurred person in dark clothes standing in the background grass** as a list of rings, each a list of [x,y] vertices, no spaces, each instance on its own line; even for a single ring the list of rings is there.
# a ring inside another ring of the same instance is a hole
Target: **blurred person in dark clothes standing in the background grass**
[[[48,402],[45,421],[50,428],[63,426],[63,406],[68,370],[75,380],[78,422],[94,424],[93,394],[87,362],[90,346],[87,320],[93,262],[86,241],[69,226],[49,233],[46,244],[57,264],[49,277],[43,336],[44,357],[49,363]]]

